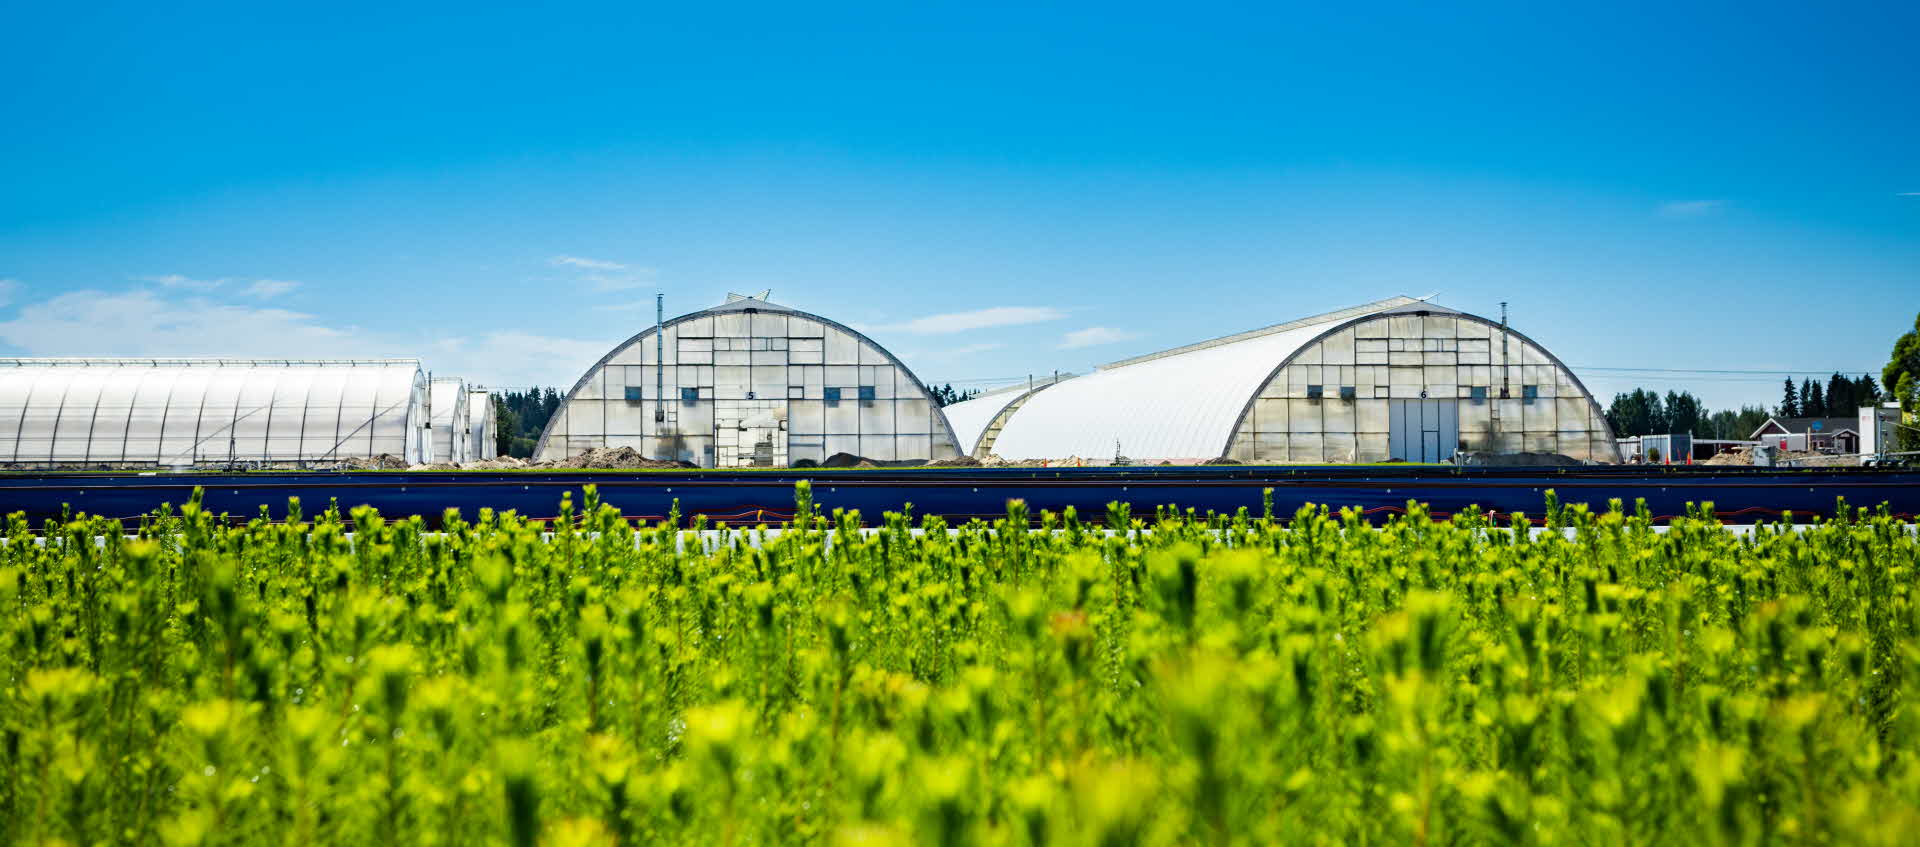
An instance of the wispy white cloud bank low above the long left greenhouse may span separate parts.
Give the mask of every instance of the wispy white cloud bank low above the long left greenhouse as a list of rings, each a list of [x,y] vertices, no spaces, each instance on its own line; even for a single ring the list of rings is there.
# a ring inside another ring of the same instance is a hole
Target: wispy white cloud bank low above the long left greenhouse
[[[419,357],[434,373],[499,386],[570,386],[612,346],[530,332],[386,334],[328,327],[292,309],[144,288],[65,292],[23,303],[13,319],[0,321],[0,344],[21,355]]]

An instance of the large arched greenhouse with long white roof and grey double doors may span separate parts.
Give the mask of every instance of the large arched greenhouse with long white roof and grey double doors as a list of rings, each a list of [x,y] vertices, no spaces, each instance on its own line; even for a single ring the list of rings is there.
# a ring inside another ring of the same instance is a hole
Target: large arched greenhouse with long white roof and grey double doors
[[[1619,461],[1592,394],[1501,321],[1392,298],[947,409],[975,457],[1194,463]]]

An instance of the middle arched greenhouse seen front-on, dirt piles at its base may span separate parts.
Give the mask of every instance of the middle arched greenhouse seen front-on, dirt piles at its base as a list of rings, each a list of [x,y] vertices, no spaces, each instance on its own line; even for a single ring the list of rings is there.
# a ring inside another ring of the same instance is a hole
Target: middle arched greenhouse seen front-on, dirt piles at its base
[[[733,294],[607,353],[566,392],[534,457],[632,448],[699,467],[785,467],[835,453],[945,459],[956,444],[893,353],[766,294]]]

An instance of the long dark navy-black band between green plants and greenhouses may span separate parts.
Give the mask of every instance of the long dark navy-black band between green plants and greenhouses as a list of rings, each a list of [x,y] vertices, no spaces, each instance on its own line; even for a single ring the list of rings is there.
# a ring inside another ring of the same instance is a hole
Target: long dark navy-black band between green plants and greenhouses
[[[1444,469],[1444,467],[1139,467],[1139,469],[866,469],[866,471],[453,471],[453,472],[81,472],[0,474],[0,513],[25,513],[35,528],[67,513],[104,515],[129,526],[161,503],[175,511],[196,486],[204,507],[234,520],[259,517],[265,505],[278,520],[288,497],[300,497],[311,517],[338,503],[342,511],[372,505],[388,519],[420,515],[438,524],[445,509],[474,520],[480,509],[518,511],[551,519],[563,494],[574,509],[582,488],[628,519],[660,520],[680,503],[680,515],[707,515],[730,524],[778,524],[793,515],[793,484],[808,478],[824,515],[858,509],[874,524],[885,511],[943,515],[948,522],[1006,515],[1008,499],[1023,499],[1029,515],[1075,507],[1081,520],[1100,522],[1106,503],[1121,501],[1135,517],[1154,507],[1233,515],[1261,513],[1261,490],[1273,488],[1275,517],[1306,503],[1357,507],[1369,520],[1428,503],[1436,517],[1471,505],[1507,515],[1544,513],[1546,492],[1561,503],[1607,509],[1619,499],[1632,511],[1645,499],[1655,519],[1686,515],[1690,503],[1713,503],[1726,522],[1830,517],[1836,501],[1849,507],[1885,505],[1899,517],[1920,515],[1920,472],[1862,469],[1743,469],[1743,467],[1582,467],[1582,469]]]

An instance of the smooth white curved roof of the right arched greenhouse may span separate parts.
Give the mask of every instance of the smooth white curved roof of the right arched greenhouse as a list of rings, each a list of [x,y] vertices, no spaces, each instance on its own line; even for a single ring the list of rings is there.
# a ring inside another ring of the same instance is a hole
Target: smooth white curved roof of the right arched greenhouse
[[[1117,446],[1131,459],[1217,457],[1248,399],[1294,351],[1340,323],[1415,307],[1452,311],[1390,298],[1116,361],[1035,392],[1000,428],[993,453],[1108,459]]]

